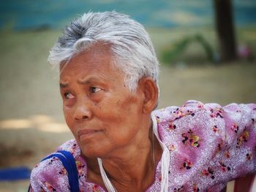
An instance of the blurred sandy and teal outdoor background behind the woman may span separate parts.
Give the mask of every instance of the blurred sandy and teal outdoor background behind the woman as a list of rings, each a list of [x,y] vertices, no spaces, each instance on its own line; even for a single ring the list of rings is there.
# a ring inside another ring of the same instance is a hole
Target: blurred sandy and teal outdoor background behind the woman
[[[1,1],[0,169],[31,169],[72,138],[48,53],[70,20],[111,10],[151,36],[161,63],[159,108],[189,99],[256,102],[255,0]],[[0,191],[26,191],[24,178],[0,178]]]

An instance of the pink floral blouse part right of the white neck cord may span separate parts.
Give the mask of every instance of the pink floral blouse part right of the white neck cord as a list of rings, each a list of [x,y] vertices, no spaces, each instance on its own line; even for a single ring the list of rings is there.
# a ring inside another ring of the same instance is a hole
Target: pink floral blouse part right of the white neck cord
[[[256,104],[187,101],[153,113],[160,139],[170,150],[173,188],[200,191],[255,172]],[[203,187],[204,186],[204,187]]]

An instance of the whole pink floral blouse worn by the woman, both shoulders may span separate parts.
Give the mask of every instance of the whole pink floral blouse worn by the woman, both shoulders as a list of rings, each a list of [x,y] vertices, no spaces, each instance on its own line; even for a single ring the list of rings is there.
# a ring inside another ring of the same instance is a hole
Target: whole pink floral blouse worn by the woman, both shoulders
[[[159,137],[170,150],[168,191],[221,191],[228,181],[256,173],[256,104],[221,107],[187,101],[183,107],[167,107],[153,115]],[[80,191],[104,191],[86,181],[86,161],[74,139],[58,150],[74,155]],[[161,160],[147,191],[160,187]],[[67,172],[58,158],[37,164],[30,191],[69,191]]]

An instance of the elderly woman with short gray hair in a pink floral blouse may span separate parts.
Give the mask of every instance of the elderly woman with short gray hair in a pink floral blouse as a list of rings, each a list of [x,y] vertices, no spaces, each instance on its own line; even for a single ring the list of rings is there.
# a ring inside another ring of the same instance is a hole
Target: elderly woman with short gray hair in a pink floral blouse
[[[256,172],[256,104],[157,107],[158,61],[143,26],[89,12],[50,51],[75,139],[31,173],[30,191],[222,191]],[[74,165],[74,162],[70,164]]]

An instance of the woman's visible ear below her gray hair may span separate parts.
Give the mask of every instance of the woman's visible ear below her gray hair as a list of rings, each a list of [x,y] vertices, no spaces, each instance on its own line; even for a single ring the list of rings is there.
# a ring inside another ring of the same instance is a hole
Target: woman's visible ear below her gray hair
[[[151,113],[157,107],[157,83],[151,77],[144,77],[140,79],[139,86],[144,94],[143,113]]]

